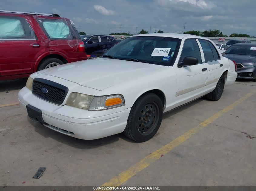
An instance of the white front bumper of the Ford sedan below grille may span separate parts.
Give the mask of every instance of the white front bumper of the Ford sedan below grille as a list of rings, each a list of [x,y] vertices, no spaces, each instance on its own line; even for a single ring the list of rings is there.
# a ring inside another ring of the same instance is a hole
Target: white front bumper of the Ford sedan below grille
[[[25,110],[27,104],[42,110],[44,126],[80,139],[97,139],[123,132],[130,113],[130,108],[125,109],[125,106],[103,111],[59,106],[34,96],[26,87],[19,91],[18,100]]]

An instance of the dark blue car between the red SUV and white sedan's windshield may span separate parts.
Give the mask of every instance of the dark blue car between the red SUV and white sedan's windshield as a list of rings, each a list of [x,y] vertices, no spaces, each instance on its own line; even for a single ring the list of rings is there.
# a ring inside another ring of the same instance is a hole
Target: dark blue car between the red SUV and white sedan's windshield
[[[105,51],[118,43],[114,37],[106,35],[80,35],[87,55],[101,56]]]

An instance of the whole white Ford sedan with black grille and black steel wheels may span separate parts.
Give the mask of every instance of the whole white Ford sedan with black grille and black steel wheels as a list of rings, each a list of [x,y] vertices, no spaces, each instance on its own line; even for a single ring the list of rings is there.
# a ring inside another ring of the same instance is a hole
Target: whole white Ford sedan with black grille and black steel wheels
[[[206,95],[220,99],[237,77],[214,43],[187,34],[128,37],[101,58],[38,71],[18,99],[29,118],[76,138],[123,132],[152,138],[163,113]]]

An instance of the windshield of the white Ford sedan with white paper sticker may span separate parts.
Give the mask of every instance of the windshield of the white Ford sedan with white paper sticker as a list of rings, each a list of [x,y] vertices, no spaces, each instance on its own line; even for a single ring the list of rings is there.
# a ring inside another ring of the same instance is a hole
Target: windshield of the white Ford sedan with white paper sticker
[[[109,49],[102,57],[172,65],[181,39],[170,37],[129,37]]]

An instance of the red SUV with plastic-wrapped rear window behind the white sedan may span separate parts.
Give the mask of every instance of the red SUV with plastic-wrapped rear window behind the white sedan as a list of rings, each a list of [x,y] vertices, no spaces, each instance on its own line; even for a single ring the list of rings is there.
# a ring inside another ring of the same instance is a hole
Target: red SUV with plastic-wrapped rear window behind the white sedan
[[[69,19],[0,10],[0,80],[86,59],[84,43]]]

